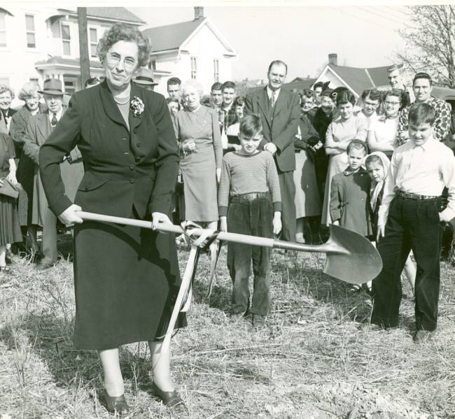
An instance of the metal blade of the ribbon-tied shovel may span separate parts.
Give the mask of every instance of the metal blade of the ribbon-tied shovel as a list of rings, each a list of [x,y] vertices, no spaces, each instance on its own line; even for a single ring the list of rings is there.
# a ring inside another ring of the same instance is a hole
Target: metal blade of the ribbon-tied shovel
[[[329,229],[330,238],[323,246],[342,248],[346,253],[327,252],[324,274],[350,284],[363,284],[379,275],[381,256],[368,239],[336,225]]]

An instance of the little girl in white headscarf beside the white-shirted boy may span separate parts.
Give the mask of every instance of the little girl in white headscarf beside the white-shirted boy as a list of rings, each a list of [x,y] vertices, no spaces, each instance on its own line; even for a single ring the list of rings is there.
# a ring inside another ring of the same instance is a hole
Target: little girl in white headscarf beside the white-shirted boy
[[[390,160],[381,151],[374,151],[367,155],[365,159],[365,167],[371,178],[370,190],[370,206],[371,206],[371,225],[373,230],[373,237],[377,237],[377,219],[379,206],[381,206],[382,194],[384,194],[384,183],[390,167]],[[411,256],[407,257],[405,268],[403,269],[409,284],[414,293],[414,283],[416,280],[416,267],[411,260]],[[370,289],[371,283],[367,284]]]

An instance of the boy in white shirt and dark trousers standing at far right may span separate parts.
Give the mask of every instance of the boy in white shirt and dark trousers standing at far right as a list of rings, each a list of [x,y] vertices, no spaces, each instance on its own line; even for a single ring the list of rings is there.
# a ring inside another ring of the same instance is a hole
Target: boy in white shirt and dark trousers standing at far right
[[[409,108],[409,141],[396,148],[378,214],[377,250],[382,270],[373,280],[371,322],[397,327],[402,297],[400,274],[412,249],[417,264],[414,342],[433,338],[440,289],[441,221],[455,217],[455,157],[433,137],[435,109],[426,103]],[[448,190],[447,208],[440,195]]]

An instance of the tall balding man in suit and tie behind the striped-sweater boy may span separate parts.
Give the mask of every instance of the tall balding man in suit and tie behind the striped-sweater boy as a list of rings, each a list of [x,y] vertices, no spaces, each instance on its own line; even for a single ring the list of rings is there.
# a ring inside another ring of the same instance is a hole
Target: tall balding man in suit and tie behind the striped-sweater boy
[[[262,145],[275,157],[281,190],[281,239],[295,241],[295,152],[293,139],[297,134],[300,117],[299,97],[281,88],[288,66],[272,61],[267,71],[268,83],[264,89],[248,94],[245,99],[246,113],[256,113],[262,120]]]

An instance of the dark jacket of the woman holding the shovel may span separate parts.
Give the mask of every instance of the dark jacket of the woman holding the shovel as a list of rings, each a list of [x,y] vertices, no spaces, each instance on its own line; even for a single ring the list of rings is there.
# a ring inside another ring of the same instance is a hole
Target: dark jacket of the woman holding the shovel
[[[144,112],[129,125],[101,85],[77,92],[68,111],[41,146],[41,179],[55,214],[71,205],[60,176],[59,162],[77,144],[85,175],[75,204],[83,211],[139,217],[158,211],[169,213],[171,194],[179,170],[179,152],[165,98],[132,83],[131,97],[144,102]]]

